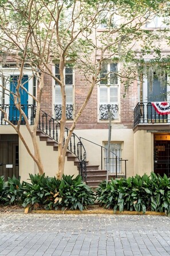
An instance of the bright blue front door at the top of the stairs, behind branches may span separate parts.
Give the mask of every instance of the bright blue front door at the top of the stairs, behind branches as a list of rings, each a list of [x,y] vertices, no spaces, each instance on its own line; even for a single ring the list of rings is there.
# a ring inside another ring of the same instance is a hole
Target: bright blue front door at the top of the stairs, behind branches
[[[10,91],[11,92],[16,92],[16,87],[18,84],[18,78],[19,76],[10,76]],[[25,75],[22,77],[22,86],[26,88],[26,90],[28,90],[28,76]],[[23,90],[22,88],[19,89],[19,92],[21,94],[21,107],[22,110],[24,111],[24,113],[27,115],[28,111],[28,94],[25,90]],[[9,111],[9,119],[11,122],[14,123],[14,125],[17,125],[18,122],[18,118],[19,118],[19,111],[17,110],[17,108],[15,107],[14,104],[14,97],[13,94],[10,94],[10,111]],[[22,118],[22,124],[24,124],[25,121]]]

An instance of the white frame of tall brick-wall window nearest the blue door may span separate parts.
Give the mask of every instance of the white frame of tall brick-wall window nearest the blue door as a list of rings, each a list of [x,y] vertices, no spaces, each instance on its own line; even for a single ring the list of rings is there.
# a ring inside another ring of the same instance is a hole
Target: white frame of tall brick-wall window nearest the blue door
[[[59,64],[59,63],[54,63],[53,68],[52,68],[54,76],[56,75],[56,64]],[[73,119],[74,119],[74,111],[75,111],[75,108],[74,108],[75,70],[74,70],[74,68],[73,68],[73,73],[72,74],[73,74],[73,84],[72,85],[69,84],[69,85],[66,85],[66,86],[72,86],[72,88],[73,88],[73,90],[72,90],[73,101],[72,101],[72,103],[68,103],[68,104],[73,104]],[[64,69],[64,77],[65,77],[65,69]],[[52,113],[53,113],[54,118],[56,118],[56,113],[55,113],[55,110],[54,110],[54,106],[56,105],[56,100],[55,100],[55,98],[56,98],[56,86],[57,86],[56,85],[56,80],[53,79],[53,112]],[[68,119],[68,120],[66,120],[66,122],[72,122],[73,119]]]

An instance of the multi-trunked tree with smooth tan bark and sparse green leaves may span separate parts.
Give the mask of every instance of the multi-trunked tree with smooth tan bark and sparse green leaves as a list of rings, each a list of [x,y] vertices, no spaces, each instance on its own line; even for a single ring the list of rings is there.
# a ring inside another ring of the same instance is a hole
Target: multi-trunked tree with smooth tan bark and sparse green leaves
[[[161,6],[161,8],[160,8]],[[36,131],[39,111],[44,90],[44,77],[50,75],[61,88],[62,115],[60,120],[60,139],[58,143],[58,179],[64,173],[64,163],[68,143],[76,127],[78,118],[88,103],[93,88],[100,80],[106,79],[108,73],[101,75],[102,64],[106,61],[121,63],[120,71],[113,73],[120,77],[127,89],[136,79],[136,49],[145,55],[152,48],[155,40],[162,34],[145,30],[145,24],[153,15],[164,13],[165,1],[96,1],[96,0],[21,0],[0,1],[0,43],[1,59],[10,56],[19,69],[16,91],[12,92],[1,84],[6,94],[13,95],[14,104],[19,111],[17,125],[5,121],[17,131],[33,160],[39,173],[44,168],[39,154]],[[102,28],[102,29],[101,29]],[[52,66],[59,64],[59,76],[55,76]],[[35,98],[26,91],[22,84],[23,69],[29,63],[32,75],[38,79],[38,96]],[[65,138],[66,126],[66,92],[64,69],[66,63],[78,70],[86,82],[88,94],[77,111],[69,133]],[[5,77],[1,71],[1,76]],[[9,78],[7,78],[9,79]],[[21,107],[20,88],[25,90],[37,103],[33,129]],[[33,142],[34,153],[30,151],[20,131],[22,118]]]

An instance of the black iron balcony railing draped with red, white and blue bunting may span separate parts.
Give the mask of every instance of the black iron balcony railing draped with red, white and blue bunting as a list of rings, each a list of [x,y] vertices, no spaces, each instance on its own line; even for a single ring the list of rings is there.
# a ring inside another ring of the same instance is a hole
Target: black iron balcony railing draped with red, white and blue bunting
[[[170,123],[170,116],[158,114],[151,102],[139,102],[134,109],[134,127],[143,123]]]

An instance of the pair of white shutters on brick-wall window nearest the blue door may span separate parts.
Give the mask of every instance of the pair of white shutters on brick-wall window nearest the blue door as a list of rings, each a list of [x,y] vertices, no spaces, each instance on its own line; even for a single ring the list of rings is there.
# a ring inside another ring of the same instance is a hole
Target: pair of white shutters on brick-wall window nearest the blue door
[[[73,86],[65,86],[66,104],[73,104]],[[62,104],[61,87],[55,86],[55,103]]]

